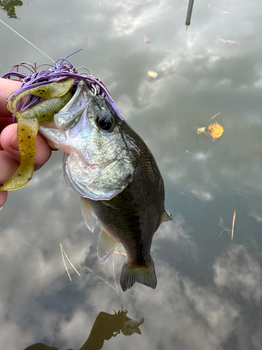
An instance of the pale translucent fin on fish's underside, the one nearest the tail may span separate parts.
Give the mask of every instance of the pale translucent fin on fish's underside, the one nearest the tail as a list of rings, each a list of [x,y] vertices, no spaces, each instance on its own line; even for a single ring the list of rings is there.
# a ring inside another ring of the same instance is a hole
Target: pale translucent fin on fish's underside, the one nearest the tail
[[[109,235],[109,233],[102,228],[99,234],[99,243],[97,244],[97,256],[99,257],[101,264],[110,258],[110,255],[114,253],[118,244],[119,241]]]

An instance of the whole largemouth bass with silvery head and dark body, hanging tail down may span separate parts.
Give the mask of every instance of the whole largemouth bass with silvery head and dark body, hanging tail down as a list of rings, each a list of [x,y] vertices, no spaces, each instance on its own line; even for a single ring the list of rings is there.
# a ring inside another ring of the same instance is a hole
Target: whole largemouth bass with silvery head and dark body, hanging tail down
[[[64,152],[64,179],[81,196],[82,216],[94,232],[104,263],[121,243],[126,251],[120,285],[156,288],[150,250],[159,225],[172,220],[164,207],[163,179],[143,139],[119,118],[110,102],[80,81],[72,99],[52,123],[39,127]]]

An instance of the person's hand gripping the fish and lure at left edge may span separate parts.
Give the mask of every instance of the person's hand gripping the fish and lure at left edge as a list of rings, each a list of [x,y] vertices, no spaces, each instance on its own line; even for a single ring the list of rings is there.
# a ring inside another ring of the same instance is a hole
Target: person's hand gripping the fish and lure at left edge
[[[12,114],[6,109],[6,99],[20,88],[17,80],[0,78],[0,187],[17,171],[20,165],[20,154],[17,144],[17,124],[12,123]],[[51,156],[52,148],[45,138],[36,137],[36,158],[34,169],[40,169]],[[5,204],[7,191],[0,192],[0,207]]]

